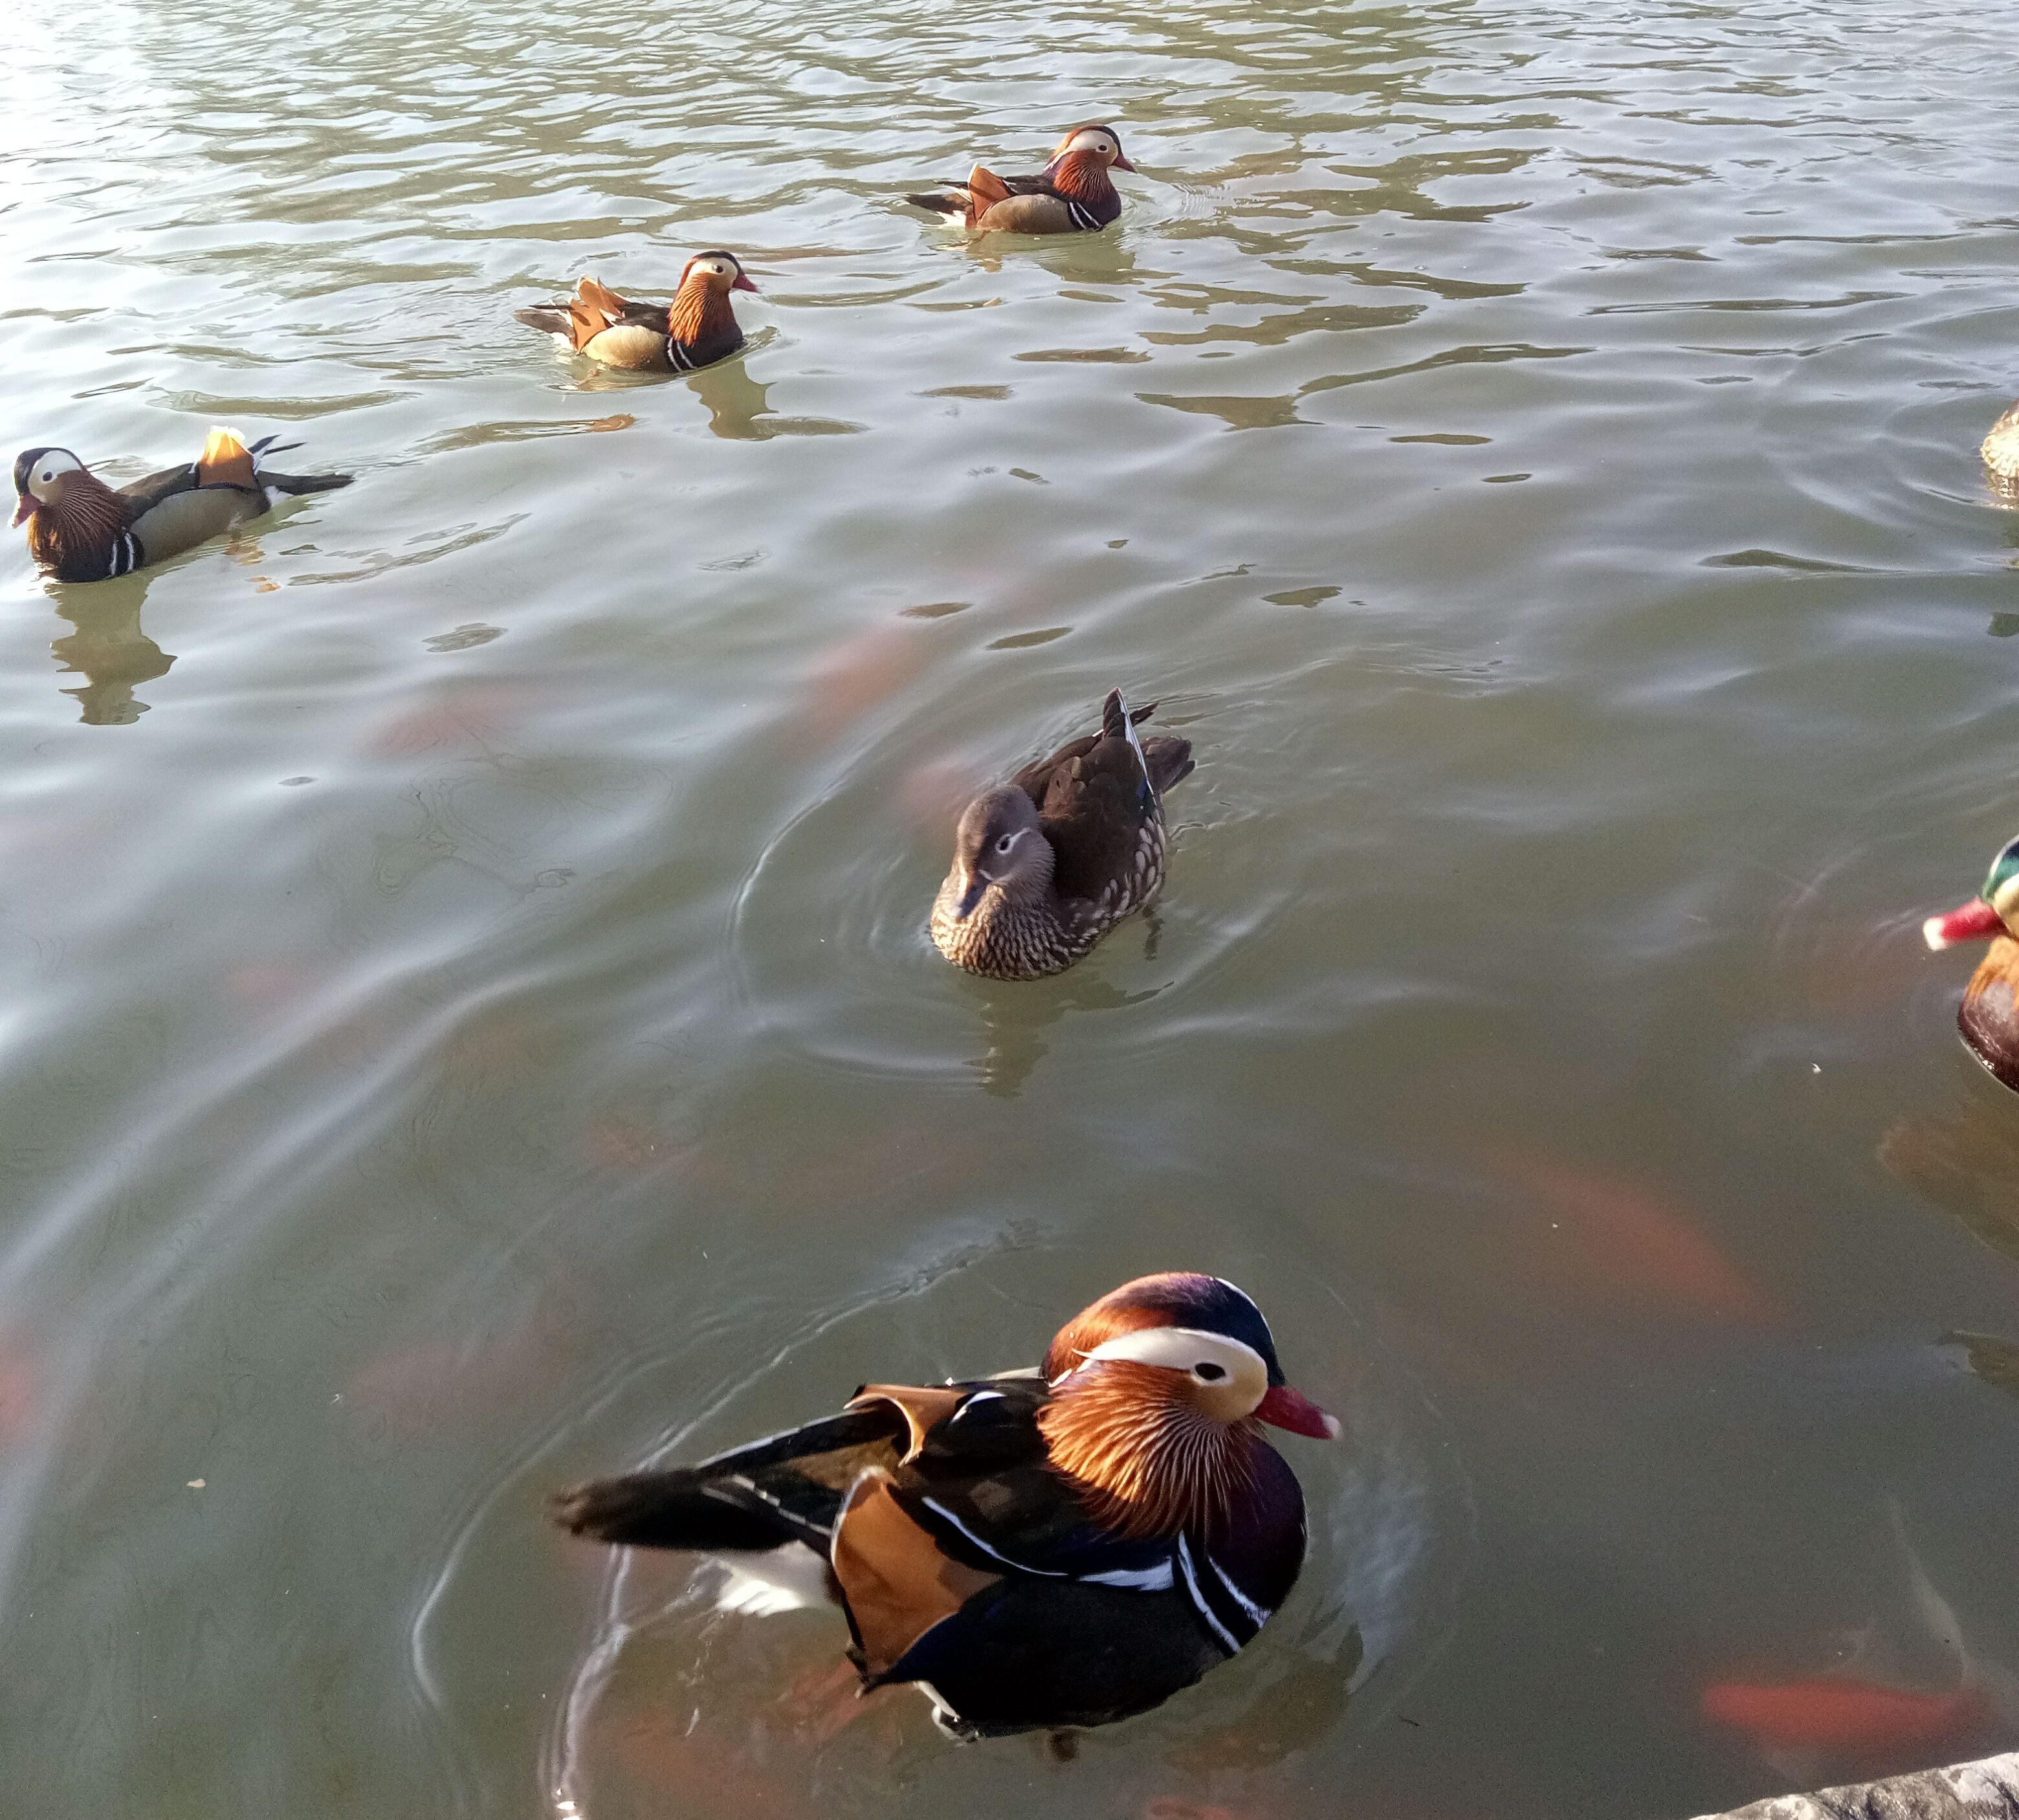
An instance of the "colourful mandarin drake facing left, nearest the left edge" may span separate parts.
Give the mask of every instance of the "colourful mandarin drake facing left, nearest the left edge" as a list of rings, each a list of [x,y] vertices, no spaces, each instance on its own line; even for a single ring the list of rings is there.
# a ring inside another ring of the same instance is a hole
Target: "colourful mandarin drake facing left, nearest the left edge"
[[[285,442],[283,448],[299,444]],[[273,436],[250,446],[212,430],[192,463],[129,487],[107,487],[69,448],[24,448],[14,457],[14,523],[28,527],[28,555],[59,582],[105,582],[273,511],[279,495],[327,493],[349,475],[273,475]]]

